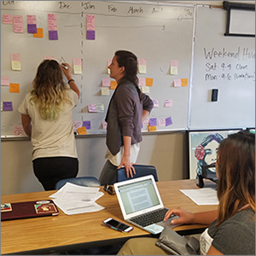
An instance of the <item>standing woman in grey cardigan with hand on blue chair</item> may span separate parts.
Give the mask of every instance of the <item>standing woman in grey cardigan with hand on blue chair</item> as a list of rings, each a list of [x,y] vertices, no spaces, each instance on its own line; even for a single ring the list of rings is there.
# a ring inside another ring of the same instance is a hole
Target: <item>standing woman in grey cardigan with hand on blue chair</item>
[[[138,88],[137,56],[127,50],[118,50],[108,66],[110,78],[118,86],[108,105],[106,116],[108,158],[99,177],[100,183],[116,182],[116,172],[125,166],[127,177],[135,174],[132,163],[137,161],[142,138],[142,122],[154,107],[149,96]]]

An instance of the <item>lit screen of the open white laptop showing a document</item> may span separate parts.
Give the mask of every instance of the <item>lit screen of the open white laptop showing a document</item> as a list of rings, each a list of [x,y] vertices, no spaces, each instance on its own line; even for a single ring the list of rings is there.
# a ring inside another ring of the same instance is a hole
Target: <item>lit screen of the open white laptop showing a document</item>
[[[151,178],[136,183],[120,185],[118,189],[127,215],[160,205]]]

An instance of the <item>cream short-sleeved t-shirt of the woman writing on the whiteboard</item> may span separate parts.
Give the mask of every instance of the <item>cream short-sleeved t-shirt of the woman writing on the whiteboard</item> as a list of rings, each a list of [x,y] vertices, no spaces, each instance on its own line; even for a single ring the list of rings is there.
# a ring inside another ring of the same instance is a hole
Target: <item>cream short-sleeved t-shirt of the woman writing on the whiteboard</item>
[[[66,102],[59,119],[53,121],[41,118],[38,108],[30,102],[31,93],[26,94],[20,104],[18,111],[32,119],[32,160],[39,157],[78,157],[73,134],[73,108],[78,104],[79,96],[71,89],[67,93],[71,103]]]

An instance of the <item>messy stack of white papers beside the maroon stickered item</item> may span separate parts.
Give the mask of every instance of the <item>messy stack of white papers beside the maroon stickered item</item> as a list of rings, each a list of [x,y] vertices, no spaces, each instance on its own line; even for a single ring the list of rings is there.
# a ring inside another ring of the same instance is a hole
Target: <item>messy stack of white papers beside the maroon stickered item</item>
[[[57,207],[61,208],[62,212],[67,215],[97,212],[104,207],[98,205],[95,201],[102,197],[104,193],[99,192],[99,188],[91,188],[66,183],[55,194],[49,195]]]

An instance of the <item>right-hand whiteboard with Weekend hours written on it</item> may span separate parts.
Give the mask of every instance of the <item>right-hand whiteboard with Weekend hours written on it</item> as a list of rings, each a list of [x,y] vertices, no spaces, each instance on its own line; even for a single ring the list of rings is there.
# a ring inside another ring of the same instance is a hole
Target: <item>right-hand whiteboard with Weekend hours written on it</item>
[[[196,9],[189,129],[255,127],[255,38],[225,37],[226,15]]]

